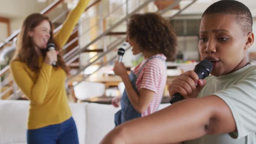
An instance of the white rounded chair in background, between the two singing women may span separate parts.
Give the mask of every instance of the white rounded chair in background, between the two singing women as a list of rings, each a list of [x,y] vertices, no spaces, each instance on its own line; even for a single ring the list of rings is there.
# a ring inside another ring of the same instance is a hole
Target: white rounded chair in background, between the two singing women
[[[75,84],[74,82],[73,85]],[[99,97],[105,94],[105,85],[99,82],[80,82],[74,86],[74,93],[79,101],[90,97]]]

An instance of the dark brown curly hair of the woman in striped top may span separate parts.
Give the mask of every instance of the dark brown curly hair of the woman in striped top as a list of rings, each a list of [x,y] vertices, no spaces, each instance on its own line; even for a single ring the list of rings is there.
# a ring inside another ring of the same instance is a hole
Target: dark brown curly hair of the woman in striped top
[[[141,50],[162,53],[168,59],[176,53],[177,37],[171,24],[157,13],[134,14],[128,22],[129,39],[135,39]]]

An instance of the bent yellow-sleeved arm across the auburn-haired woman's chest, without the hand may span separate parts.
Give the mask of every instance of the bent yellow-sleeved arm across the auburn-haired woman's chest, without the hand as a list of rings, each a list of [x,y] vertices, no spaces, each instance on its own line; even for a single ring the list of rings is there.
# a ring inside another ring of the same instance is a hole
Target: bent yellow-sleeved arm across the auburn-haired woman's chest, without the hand
[[[21,62],[14,61],[10,63],[13,79],[17,85],[32,103],[39,105],[43,103],[46,97],[52,67],[52,65],[43,63],[38,79],[34,82]]]

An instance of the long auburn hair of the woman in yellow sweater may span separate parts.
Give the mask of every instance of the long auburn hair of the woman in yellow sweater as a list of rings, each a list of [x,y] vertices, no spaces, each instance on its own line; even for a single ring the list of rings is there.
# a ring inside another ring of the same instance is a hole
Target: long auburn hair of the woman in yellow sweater
[[[39,56],[36,53],[36,49],[34,49],[33,40],[29,36],[29,32],[38,26],[44,20],[49,21],[47,16],[44,16],[40,13],[30,14],[23,22],[21,32],[18,36],[17,47],[13,56],[12,61],[20,61],[26,63],[31,70],[34,72],[39,72]],[[50,30],[50,39],[49,41],[54,42],[53,40],[53,25],[49,21],[51,30]],[[56,51],[60,51],[60,47],[56,45]],[[46,56],[47,49],[41,49],[43,58]],[[69,67],[66,66],[62,56],[60,54],[57,55],[56,69],[61,67],[64,69],[66,74],[69,74]]]

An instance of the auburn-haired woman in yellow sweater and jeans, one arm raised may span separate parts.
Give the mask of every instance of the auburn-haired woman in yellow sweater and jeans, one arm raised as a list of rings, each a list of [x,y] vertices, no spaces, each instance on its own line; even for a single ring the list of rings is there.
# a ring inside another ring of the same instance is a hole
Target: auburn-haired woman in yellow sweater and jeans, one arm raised
[[[55,36],[47,16],[33,13],[23,22],[10,69],[30,100],[28,144],[79,144],[65,88],[69,69],[59,51],[88,3],[80,0]],[[49,42],[55,43],[55,50],[47,49]]]

